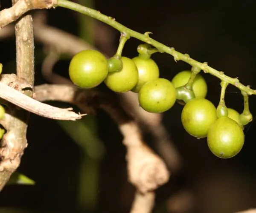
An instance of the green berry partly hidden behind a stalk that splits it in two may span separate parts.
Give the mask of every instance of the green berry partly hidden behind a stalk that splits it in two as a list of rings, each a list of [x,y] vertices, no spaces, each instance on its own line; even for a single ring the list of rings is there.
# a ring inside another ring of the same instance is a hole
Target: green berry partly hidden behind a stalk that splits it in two
[[[175,88],[180,87],[188,83],[191,75],[191,71],[185,70],[179,72],[172,79],[172,83]],[[204,77],[200,74],[197,74],[192,86],[193,91],[195,92],[195,98],[205,98],[207,95],[207,83],[204,80]]]

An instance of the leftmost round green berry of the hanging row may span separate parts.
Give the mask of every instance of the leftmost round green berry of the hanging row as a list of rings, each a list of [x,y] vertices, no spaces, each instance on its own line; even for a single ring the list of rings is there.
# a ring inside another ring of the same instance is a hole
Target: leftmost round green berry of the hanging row
[[[93,88],[108,75],[108,60],[102,53],[86,49],[77,53],[70,61],[70,80],[81,88]]]

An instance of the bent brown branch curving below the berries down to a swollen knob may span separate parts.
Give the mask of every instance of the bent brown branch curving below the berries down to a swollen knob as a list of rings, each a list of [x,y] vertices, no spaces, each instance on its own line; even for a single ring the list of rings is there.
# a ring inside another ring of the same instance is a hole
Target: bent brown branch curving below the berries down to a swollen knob
[[[72,85],[44,84],[35,86],[34,97],[38,101],[55,100],[76,104],[87,113],[95,113],[98,107],[104,109],[123,135],[123,144],[127,147],[129,181],[145,195],[145,199],[151,200],[152,197],[147,196],[147,193],[153,193],[169,180],[169,171],[163,160],[144,143],[134,118],[122,109],[112,95],[103,94],[97,89],[84,90]],[[140,204],[135,202],[134,205]],[[144,212],[148,211],[141,211]]]

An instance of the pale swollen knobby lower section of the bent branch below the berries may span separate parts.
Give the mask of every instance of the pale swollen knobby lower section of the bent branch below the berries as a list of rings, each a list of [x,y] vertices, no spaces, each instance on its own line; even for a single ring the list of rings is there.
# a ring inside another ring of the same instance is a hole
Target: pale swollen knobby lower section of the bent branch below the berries
[[[109,107],[108,111],[112,114],[111,110]],[[123,143],[127,147],[126,159],[131,183],[143,194],[166,183],[169,180],[166,165],[143,143],[137,124],[134,121],[119,123],[119,130],[124,136]]]

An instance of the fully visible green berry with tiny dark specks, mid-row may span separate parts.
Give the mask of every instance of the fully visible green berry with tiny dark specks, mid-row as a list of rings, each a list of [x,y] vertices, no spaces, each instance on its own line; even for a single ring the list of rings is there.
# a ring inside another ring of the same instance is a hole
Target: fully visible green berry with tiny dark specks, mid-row
[[[175,104],[175,101],[175,87],[171,81],[164,78],[145,83],[139,92],[140,107],[147,112],[165,112]]]

